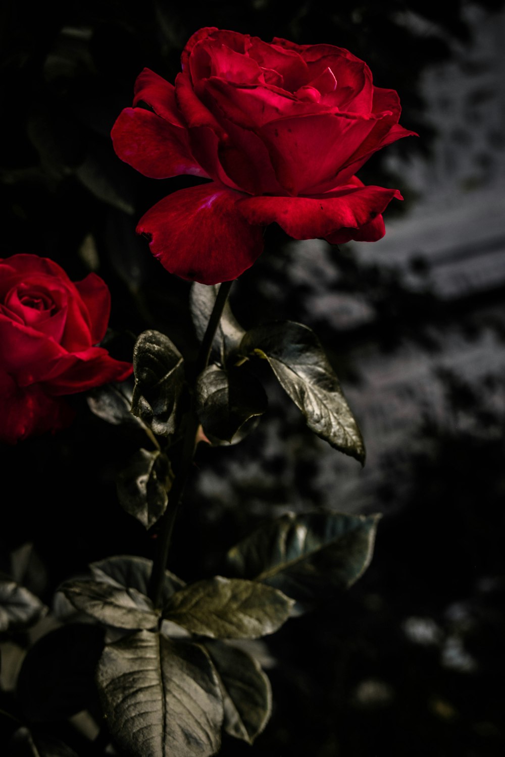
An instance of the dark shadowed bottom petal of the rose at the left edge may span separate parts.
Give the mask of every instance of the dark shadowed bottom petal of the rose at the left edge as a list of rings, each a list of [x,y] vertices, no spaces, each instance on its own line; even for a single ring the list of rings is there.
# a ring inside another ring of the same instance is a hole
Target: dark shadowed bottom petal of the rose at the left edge
[[[64,400],[48,397],[39,385],[20,388],[0,372],[0,441],[16,444],[70,424],[73,410]]]

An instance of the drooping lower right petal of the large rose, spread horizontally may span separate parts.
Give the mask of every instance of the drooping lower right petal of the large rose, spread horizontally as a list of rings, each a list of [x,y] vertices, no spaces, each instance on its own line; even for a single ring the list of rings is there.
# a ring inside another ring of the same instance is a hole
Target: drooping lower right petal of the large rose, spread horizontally
[[[353,184],[313,197],[250,197],[237,203],[249,223],[274,221],[295,239],[325,237],[338,229],[360,229],[385,210],[397,189]]]

